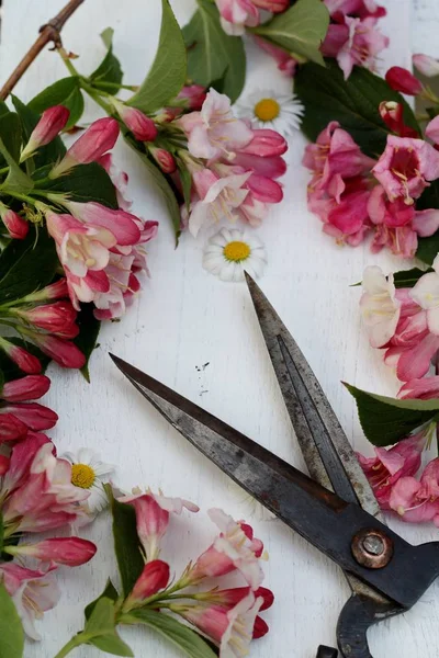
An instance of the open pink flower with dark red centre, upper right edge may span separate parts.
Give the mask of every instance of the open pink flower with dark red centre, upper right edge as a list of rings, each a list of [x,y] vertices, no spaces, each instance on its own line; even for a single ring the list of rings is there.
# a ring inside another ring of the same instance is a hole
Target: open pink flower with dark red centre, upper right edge
[[[387,136],[387,146],[373,168],[390,201],[402,197],[407,205],[420,196],[427,181],[439,178],[439,154],[423,139]]]

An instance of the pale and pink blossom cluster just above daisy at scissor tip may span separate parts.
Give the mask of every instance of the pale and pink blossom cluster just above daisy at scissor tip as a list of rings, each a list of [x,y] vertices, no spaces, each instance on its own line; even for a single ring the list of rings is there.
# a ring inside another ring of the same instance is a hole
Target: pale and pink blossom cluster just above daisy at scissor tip
[[[214,89],[200,111],[176,123],[188,138],[188,150],[180,157],[192,177],[189,212],[182,207],[183,225],[194,236],[223,218],[239,217],[259,226],[269,206],[283,197],[277,179],[286,169],[285,139],[275,131],[255,131],[236,118],[230,100]]]

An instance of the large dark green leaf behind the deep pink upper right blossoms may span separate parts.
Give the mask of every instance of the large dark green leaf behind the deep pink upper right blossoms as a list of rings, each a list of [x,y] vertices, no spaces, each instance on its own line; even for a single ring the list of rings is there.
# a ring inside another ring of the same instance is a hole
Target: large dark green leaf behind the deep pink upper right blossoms
[[[404,123],[419,131],[412,109],[385,80],[365,68],[354,67],[346,81],[334,60],[328,59],[326,64],[326,69],[305,64],[294,78],[294,92],[305,106],[302,131],[308,139],[315,141],[330,121],[338,121],[364,154],[373,158],[381,156],[389,135],[379,113],[382,101],[402,103]]]

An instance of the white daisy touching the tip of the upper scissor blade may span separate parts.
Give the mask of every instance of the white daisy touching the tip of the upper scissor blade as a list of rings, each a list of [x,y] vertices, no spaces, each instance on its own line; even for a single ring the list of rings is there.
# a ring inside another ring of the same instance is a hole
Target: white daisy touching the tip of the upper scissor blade
[[[203,268],[222,281],[241,281],[244,271],[257,279],[266,264],[266,249],[259,238],[236,228],[222,228],[204,249]]]

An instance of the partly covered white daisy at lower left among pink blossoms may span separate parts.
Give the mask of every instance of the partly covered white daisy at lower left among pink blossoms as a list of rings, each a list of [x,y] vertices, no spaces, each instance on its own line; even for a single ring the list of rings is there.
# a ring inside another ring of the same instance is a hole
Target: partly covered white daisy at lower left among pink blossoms
[[[99,454],[88,447],[81,447],[76,454],[67,452],[61,458],[71,464],[71,484],[90,491],[87,511],[92,515],[102,511],[108,504],[103,484],[109,481],[114,466],[101,462]]]

